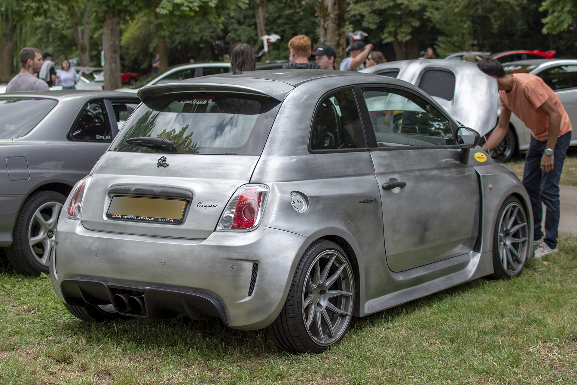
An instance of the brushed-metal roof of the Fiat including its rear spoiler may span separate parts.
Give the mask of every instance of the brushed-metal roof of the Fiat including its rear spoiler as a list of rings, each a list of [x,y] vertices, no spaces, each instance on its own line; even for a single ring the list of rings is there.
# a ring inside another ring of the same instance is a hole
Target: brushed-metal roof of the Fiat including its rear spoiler
[[[198,89],[219,89],[231,92],[248,92],[250,94],[260,94],[271,96],[272,98],[283,100],[284,97],[294,87],[317,79],[329,79],[331,77],[366,77],[366,80],[351,79],[353,83],[366,81],[383,83],[384,78],[379,75],[358,73],[354,71],[339,70],[258,70],[246,71],[242,74],[233,75],[223,73],[203,77],[193,77],[175,83],[148,85],[138,91],[141,100],[146,100],[151,96],[170,92],[197,91]],[[393,78],[387,79],[390,83],[399,83],[408,87],[412,85]]]

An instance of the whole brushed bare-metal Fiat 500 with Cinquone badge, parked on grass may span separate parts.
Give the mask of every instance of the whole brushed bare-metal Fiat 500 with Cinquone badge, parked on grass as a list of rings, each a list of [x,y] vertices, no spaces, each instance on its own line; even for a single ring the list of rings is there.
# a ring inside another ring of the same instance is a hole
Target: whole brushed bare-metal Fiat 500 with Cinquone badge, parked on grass
[[[322,352],[353,316],[530,256],[518,178],[405,81],[269,70],[138,95],[59,217],[51,279],[80,319],[218,317]]]

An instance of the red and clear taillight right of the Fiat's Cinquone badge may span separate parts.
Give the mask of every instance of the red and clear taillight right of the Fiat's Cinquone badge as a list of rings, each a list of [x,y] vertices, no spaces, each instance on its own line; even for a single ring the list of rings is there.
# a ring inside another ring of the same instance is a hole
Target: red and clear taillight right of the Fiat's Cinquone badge
[[[244,185],[228,201],[216,230],[253,230],[263,216],[268,187]]]

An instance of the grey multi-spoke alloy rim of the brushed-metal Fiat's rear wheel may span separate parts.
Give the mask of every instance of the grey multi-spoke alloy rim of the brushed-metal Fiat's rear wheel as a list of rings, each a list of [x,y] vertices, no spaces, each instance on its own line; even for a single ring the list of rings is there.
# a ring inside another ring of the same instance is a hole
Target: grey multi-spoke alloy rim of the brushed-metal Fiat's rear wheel
[[[353,276],[341,253],[327,250],[310,264],[302,290],[306,331],[319,345],[338,341],[353,313]]]

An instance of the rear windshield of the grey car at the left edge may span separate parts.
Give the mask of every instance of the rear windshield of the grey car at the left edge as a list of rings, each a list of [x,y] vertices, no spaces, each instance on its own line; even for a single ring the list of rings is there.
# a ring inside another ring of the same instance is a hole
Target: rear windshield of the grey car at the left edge
[[[57,103],[54,99],[0,98],[0,138],[29,133]]]

